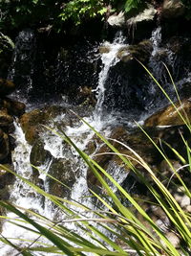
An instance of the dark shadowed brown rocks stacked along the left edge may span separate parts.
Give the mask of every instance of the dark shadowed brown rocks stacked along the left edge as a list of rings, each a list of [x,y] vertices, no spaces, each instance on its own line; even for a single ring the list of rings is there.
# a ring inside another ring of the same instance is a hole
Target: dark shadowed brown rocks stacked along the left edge
[[[11,166],[11,151],[14,150],[15,140],[12,136],[14,131],[13,120],[25,111],[25,105],[6,97],[15,90],[12,81],[0,79],[0,164],[5,165],[8,169]],[[0,168],[0,198],[9,199],[10,188],[14,181],[14,175]],[[1,211],[1,209],[0,209]]]

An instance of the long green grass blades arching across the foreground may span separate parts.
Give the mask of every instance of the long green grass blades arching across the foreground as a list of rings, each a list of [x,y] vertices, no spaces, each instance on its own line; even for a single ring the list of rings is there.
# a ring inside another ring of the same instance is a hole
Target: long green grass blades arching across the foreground
[[[147,72],[153,78],[153,75],[148,70]],[[172,77],[170,78],[172,79]],[[156,81],[155,78],[153,79]],[[159,85],[159,88],[163,90],[159,82],[156,82]],[[163,91],[163,93],[177,110],[184,125],[189,129],[189,131],[191,131],[190,122],[187,119],[186,114],[179,111],[165,91]],[[179,94],[177,93],[177,95],[178,100],[180,101]],[[80,157],[84,160],[86,165],[101,184],[106,193],[104,197],[90,190],[92,196],[100,202],[100,205],[102,205],[101,210],[97,209],[95,211],[76,201],[70,201],[65,198],[58,198],[50,195],[36,185],[32,184],[31,181],[15,174],[11,170],[1,165],[1,168],[4,168],[6,171],[11,172],[11,174],[22,179],[37,193],[45,198],[49,198],[53,204],[59,208],[60,212],[62,212],[64,216],[63,220],[61,221],[51,221],[44,216],[27,209],[25,209],[25,212],[23,212],[23,209],[20,209],[20,207],[12,205],[9,201],[1,200],[1,207],[13,212],[19,218],[18,221],[9,219],[7,221],[11,221],[11,223],[22,226],[27,231],[34,232],[36,234],[36,240],[30,241],[29,238],[29,241],[27,241],[27,246],[25,243],[23,243],[23,246],[17,245],[14,242],[14,238],[2,237],[1,241],[14,247],[14,249],[18,251],[17,255],[36,255],[38,252],[48,252],[56,255],[87,255],[87,253],[89,253],[89,255],[121,256],[190,255],[191,216],[171,195],[171,191],[168,190],[168,186],[165,186],[162,183],[148,163],[146,163],[145,160],[128,145],[115,141],[115,143],[118,143],[125,147],[128,151],[131,151],[131,156],[117,151],[117,148],[113,146],[113,140],[106,139],[86,121],[82,120],[82,122],[85,123],[90,129],[94,130],[96,136],[109,147],[110,151],[112,151],[110,153],[115,153],[117,157],[119,157],[120,160],[128,167],[128,169],[138,176],[142,184],[147,187],[151,198],[155,198],[153,202],[149,203],[151,205],[157,205],[160,209],[162,209],[166,218],[171,223],[171,233],[174,233],[176,239],[179,240],[178,245],[168,237],[166,230],[163,230],[163,228],[159,226],[159,223],[154,221],[151,216],[141,207],[139,203],[140,199],[132,197],[126,190],[124,190],[124,188],[117,183],[113,176],[109,175],[106,170],[98,165],[93,158],[91,158],[84,151],[78,149],[73,140],[68,137],[67,134],[65,134],[63,131],[57,132],[51,128],[49,129],[52,132],[54,132],[57,136],[60,136],[65,142],[71,145],[75,151],[78,152]],[[155,141],[149,136],[149,134],[147,134],[143,128],[139,128],[142,130],[142,132],[144,132],[147,139],[150,140],[157,148],[164,161],[166,161],[169,168],[173,171],[171,179],[176,176],[181,184],[183,193],[187,197],[191,198],[190,187],[184,183],[184,178],[180,176],[180,172],[175,170],[171,161],[159,148]],[[187,157],[180,155],[180,152],[173,149],[170,145],[168,145],[168,147],[174,151],[176,156],[180,159],[182,168],[187,168],[189,171],[191,171],[191,148],[183,136],[181,139],[184,142]],[[146,178],[145,175],[142,175],[142,173],[138,171],[135,164],[133,164],[135,162],[137,162],[142,169],[145,170],[147,174],[146,176],[149,178]],[[60,181],[57,180],[57,182]],[[109,184],[113,184],[112,187],[115,186],[119,194],[123,198],[126,198],[131,206],[124,206],[120,198],[117,197],[117,194],[113,191]],[[92,217],[87,217],[87,213],[92,213]],[[141,216],[142,221],[139,221],[140,218],[138,218],[138,216]],[[5,219],[6,217],[2,216],[1,218]],[[70,222],[74,222],[77,225],[78,230],[81,230],[82,233],[76,233],[67,227],[66,223]],[[28,224],[31,225],[29,226]],[[40,242],[40,237],[44,237],[47,240],[45,242]]]

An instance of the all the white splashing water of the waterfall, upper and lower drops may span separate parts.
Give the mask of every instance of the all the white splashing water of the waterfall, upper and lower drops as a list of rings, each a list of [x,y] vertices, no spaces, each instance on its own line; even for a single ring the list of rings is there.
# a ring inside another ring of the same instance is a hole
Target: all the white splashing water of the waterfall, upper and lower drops
[[[156,76],[156,78],[159,81],[164,81],[166,84],[166,81],[167,81],[166,75],[163,73],[163,68],[161,68],[163,64],[162,64],[162,61],[159,61],[160,55],[164,56],[165,60],[167,60],[167,64],[173,70],[174,70],[174,63],[175,63],[176,57],[171,50],[163,48],[161,46],[161,38],[162,38],[161,28],[157,28],[152,33],[152,36],[150,38],[153,43],[153,52],[149,60],[149,66],[152,69],[152,72]],[[102,54],[100,54],[100,58],[102,61],[102,68],[98,75],[98,81],[97,81],[97,86],[95,90],[96,99],[97,99],[96,107],[95,107],[93,116],[89,116],[85,119],[92,127],[96,128],[97,131],[101,131],[106,137],[111,133],[111,126],[117,126],[117,120],[120,120],[121,123],[124,125],[125,123],[124,115],[127,115],[129,117],[131,115],[130,111],[132,110],[132,109],[128,109],[129,112],[127,111],[123,115],[120,112],[119,113],[117,112],[118,114],[117,119],[115,118],[115,115],[109,116],[107,114],[107,116],[104,117],[103,105],[106,100],[105,99],[105,92],[106,92],[105,82],[108,80],[109,71],[111,70],[112,67],[115,67],[119,61],[119,58],[117,58],[118,51],[124,46],[127,46],[127,44],[125,44],[125,38],[121,34],[117,35],[112,43],[109,43],[106,41],[101,44],[101,47],[104,48],[105,50],[103,51]],[[16,49],[15,49],[15,53],[12,60],[9,79],[11,79],[12,81],[15,81],[16,83],[18,82],[21,85],[21,87],[16,91],[13,97],[19,98],[19,100],[23,100],[22,97],[26,97],[26,95],[32,89],[32,85],[33,85],[32,83],[33,68],[34,68],[33,61],[35,58],[35,55],[34,55],[35,36],[33,32],[29,30],[21,32],[16,39],[15,47]],[[25,67],[25,65],[26,67],[23,70],[22,68],[21,69],[18,68],[18,62],[20,62],[21,67]],[[74,62],[74,59],[73,59],[73,62]],[[63,68],[62,61],[59,60],[59,66],[55,72],[55,75],[57,76],[60,75],[58,73],[61,68]],[[64,76],[68,74],[69,70],[70,70],[70,65],[67,66],[65,72],[63,72]],[[74,73],[72,72],[72,74]],[[128,77],[128,74],[125,74],[125,76],[126,76],[125,77],[125,80],[126,80]],[[61,83],[63,77],[62,75],[60,75],[60,78],[57,81],[59,86],[61,86],[59,82]],[[64,77],[64,79],[67,82],[70,81],[67,76],[66,78]],[[190,81],[190,80],[187,80],[187,81]],[[26,89],[24,89],[23,85],[25,85]],[[71,84],[69,83],[67,85],[69,86]],[[120,84],[118,82],[117,85],[118,87],[122,87],[123,84],[122,83]],[[127,85],[131,85],[132,87],[137,86],[137,84],[134,84],[134,83],[127,84]],[[126,101],[129,100],[125,98],[126,97],[125,93],[128,92],[129,88],[131,89],[131,87],[126,86],[126,91],[123,91],[122,89],[119,90],[118,93],[124,94],[123,100],[124,99]],[[136,89],[133,90],[133,93],[135,91]],[[139,91],[142,92],[141,89],[139,89]],[[151,109],[153,106],[156,107],[157,105],[156,103],[154,105],[154,102],[155,101],[157,102],[158,100],[157,99],[158,94],[156,96],[156,92],[157,92],[156,85],[154,85],[152,81],[149,84],[148,91],[146,91],[146,93],[148,94],[148,100],[145,100],[145,102],[148,101],[148,103],[146,103],[148,109]],[[131,97],[132,94],[129,94],[129,95]],[[118,97],[118,99],[120,99],[120,97]],[[131,99],[129,101],[131,101]],[[125,116],[125,118],[128,118],[128,117]],[[64,119],[65,119],[65,114],[57,116],[56,122],[60,121],[60,124],[62,124],[61,121]],[[53,122],[55,122],[55,119],[53,120]],[[50,122],[50,126],[51,125],[52,124]],[[125,123],[125,126],[130,127],[131,124]],[[91,130],[81,122],[76,122],[74,126],[72,125],[63,126],[63,130],[66,132],[66,134],[70,138],[72,138],[72,140],[74,141],[74,144],[81,151],[87,150],[89,142],[94,139],[94,135],[95,135],[93,130]],[[32,167],[30,164],[30,154],[32,151],[32,147],[26,142],[25,135],[22,129],[18,126],[18,124],[15,124],[14,136],[16,140],[16,147],[14,151],[12,151],[12,163],[14,165],[14,170],[18,175],[21,175],[31,180],[33,175]],[[48,193],[50,192],[50,184],[48,182],[47,174],[49,174],[53,166],[53,161],[55,160],[63,160],[66,162],[70,161],[71,172],[72,172],[72,175],[74,176],[74,184],[71,186],[71,191],[68,194],[66,194],[66,198],[74,201],[78,201],[79,203],[84,204],[87,207],[90,207],[91,209],[96,209],[94,208],[95,205],[94,205],[93,199],[90,197],[91,195],[89,193],[89,188],[87,184],[88,169],[84,164],[84,162],[82,161],[82,159],[78,156],[76,151],[74,151],[74,149],[71,149],[69,146],[67,146],[66,143],[63,142],[62,138],[60,138],[57,135],[54,135],[53,133],[51,134],[50,131],[41,132],[40,139],[43,141],[44,151],[48,151],[50,155],[50,158],[46,159],[43,165],[38,166],[39,170],[43,171],[38,176],[38,180],[41,180],[43,184],[42,185],[43,189]],[[96,154],[96,151],[98,150],[98,146],[96,145],[95,148],[96,150],[93,154]],[[117,166],[115,163],[109,164],[107,172],[111,174],[120,184],[122,184],[122,182],[126,179],[128,175],[126,171],[124,172],[122,167]],[[112,184],[110,185],[115,190]],[[30,186],[25,184],[25,182],[21,181],[19,178],[16,178],[16,181],[14,183],[14,187],[11,192],[11,201],[18,206],[25,207],[27,209],[32,209],[34,212],[38,212],[39,214],[49,218],[50,220],[53,220],[54,218],[56,218],[56,220],[59,221],[59,219],[62,220],[64,218],[63,216],[60,215],[59,211],[55,212],[53,203],[51,203],[47,199],[42,199],[42,197],[37,195],[37,193],[35,193]],[[80,209],[75,209],[73,206],[71,209],[76,211],[78,215],[81,215],[84,217],[84,213],[82,213]],[[92,216],[93,215],[91,213],[88,213],[86,215],[87,218]],[[16,218],[11,213],[8,213],[8,217]],[[68,225],[68,227],[72,228],[76,232],[81,232],[77,230],[77,227],[75,224],[73,225],[70,224],[70,226]],[[17,226],[11,224],[9,221],[6,221],[5,224],[3,225],[2,235],[6,238],[14,237],[14,238],[22,238],[24,240],[27,240],[30,236],[31,240],[36,239],[36,235],[32,236],[31,233],[29,234],[28,232],[24,232],[23,229],[18,228]],[[85,234],[82,234],[82,235],[85,237]],[[12,249],[8,245],[0,244],[0,249],[3,255],[11,255],[12,253]],[[46,255],[46,254],[41,253],[39,255]],[[37,254],[35,256],[37,256]]]

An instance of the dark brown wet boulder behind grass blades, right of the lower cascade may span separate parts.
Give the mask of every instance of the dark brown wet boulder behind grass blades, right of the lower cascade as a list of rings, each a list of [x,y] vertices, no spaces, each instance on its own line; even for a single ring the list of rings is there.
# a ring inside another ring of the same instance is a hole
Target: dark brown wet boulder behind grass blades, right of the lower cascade
[[[119,151],[122,155],[126,155],[126,157],[131,161],[131,163],[138,169],[138,171],[145,176],[149,176],[144,168],[138,163],[138,158],[135,156],[133,151],[136,151],[147,164],[156,164],[160,161],[161,156],[159,155],[159,151],[146,140],[145,135],[141,131],[135,131],[134,133],[129,133],[126,128],[117,127],[114,128],[112,133],[110,134],[110,138],[115,141],[111,141],[112,145]],[[157,138],[155,139],[157,142]],[[117,141],[127,145],[127,147],[119,144]],[[132,149],[132,151],[131,151]],[[131,170],[130,165],[126,165],[117,154],[111,153],[112,151],[104,144],[97,147],[95,160],[104,170],[108,170],[111,162],[114,162],[117,166],[123,168],[127,173],[131,172],[131,175],[134,176],[135,181],[138,181],[138,176],[134,174]],[[92,174],[91,170],[88,170],[87,180],[89,186],[99,186],[99,182],[97,181],[95,175]]]

